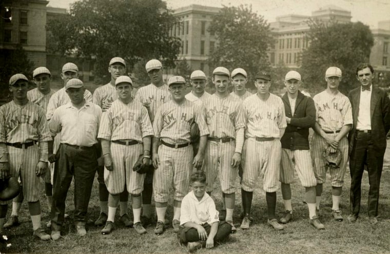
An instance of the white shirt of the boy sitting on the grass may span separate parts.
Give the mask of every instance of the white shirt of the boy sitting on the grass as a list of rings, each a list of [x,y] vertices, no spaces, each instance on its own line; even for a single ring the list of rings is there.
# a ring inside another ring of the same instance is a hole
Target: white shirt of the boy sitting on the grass
[[[187,222],[200,225],[205,223],[211,225],[214,222],[219,222],[219,212],[216,205],[206,192],[201,201],[198,201],[193,190],[183,198],[180,210],[180,225]]]

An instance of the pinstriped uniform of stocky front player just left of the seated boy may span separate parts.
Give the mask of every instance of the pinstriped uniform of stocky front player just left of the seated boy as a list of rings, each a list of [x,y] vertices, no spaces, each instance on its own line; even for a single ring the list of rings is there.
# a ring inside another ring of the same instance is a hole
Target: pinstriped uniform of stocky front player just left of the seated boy
[[[169,101],[161,106],[153,122],[154,136],[169,144],[190,142],[190,126],[196,122],[200,135],[207,135],[208,128],[204,109],[186,99],[182,104]],[[192,173],[192,146],[171,148],[160,145],[158,150],[160,165],[154,170],[154,201],[165,203],[169,199],[169,189],[174,189],[174,200],[182,201],[188,193],[189,177]],[[173,186],[172,186],[173,183]]]

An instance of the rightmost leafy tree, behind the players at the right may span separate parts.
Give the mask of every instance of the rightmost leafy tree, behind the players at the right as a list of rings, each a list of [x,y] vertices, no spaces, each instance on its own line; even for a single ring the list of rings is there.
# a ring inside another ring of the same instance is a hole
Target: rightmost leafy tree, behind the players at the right
[[[339,90],[347,94],[357,87],[356,66],[368,62],[374,45],[369,27],[357,23],[339,24],[310,21],[310,46],[302,53],[301,74],[311,92],[325,87],[325,71],[337,66],[343,72]]]

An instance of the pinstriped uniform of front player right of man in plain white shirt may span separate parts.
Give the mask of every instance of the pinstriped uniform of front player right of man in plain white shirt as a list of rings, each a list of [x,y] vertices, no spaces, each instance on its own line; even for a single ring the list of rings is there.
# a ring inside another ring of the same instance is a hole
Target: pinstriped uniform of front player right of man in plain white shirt
[[[134,172],[132,168],[143,153],[142,138],[150,135],[153,135],[153,128],[148,111],[138,101],[124,104],[121,100],[115,100],[103,113],[97,138],[139,142],[129,146],[111,143],[113,170],[104,170],[104,180],[111,194],[123,192],[125,184],[131,194],[142,192],[145,174]]]

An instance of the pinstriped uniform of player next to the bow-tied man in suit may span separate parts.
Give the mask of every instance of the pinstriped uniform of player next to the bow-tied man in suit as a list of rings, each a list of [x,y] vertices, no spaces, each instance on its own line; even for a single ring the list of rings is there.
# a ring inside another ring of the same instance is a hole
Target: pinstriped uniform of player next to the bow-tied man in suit
[[[353,124],[352,106],[348,97],[341,92],[338,92],[336,95],[330,95],[325,90],[316,94],[313,100],[317,111],[317,123],[325,132],[334,132],[327,135],[335,137],[344,125]],[[322,153],[327,147],[328,144],[325,139],[315,132],[313,146],[311,147],[311,157],[314,163],[317,183],[319,184],[324,183],[326,180],[327,167]],[[333,187],[342,187],[344,183],[344,174],[348,162],[348,140],[346,136],[340,140],[339,149],[343,154],[340,168],[329,168]]]

